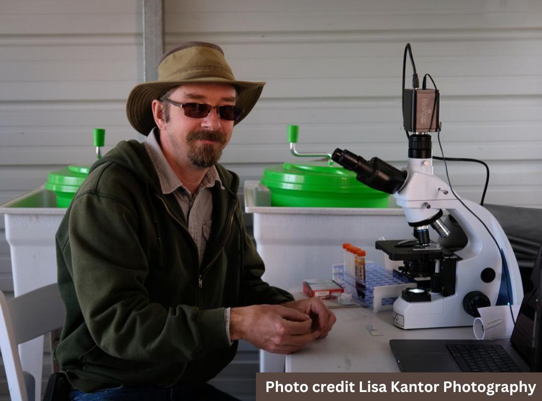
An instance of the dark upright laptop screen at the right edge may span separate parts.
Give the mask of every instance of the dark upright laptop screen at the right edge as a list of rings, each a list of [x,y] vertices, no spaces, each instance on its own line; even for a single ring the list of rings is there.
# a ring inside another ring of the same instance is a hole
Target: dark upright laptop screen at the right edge
[[[514,331],[510,341],[515,350],[525,362],[532,367],[533,371],[540,370],[540,303],[542,302],[542,246],[537,259],[534,262],[533,271],[529,282],[524,285],[525,295],[516,319]]]

